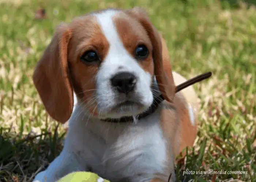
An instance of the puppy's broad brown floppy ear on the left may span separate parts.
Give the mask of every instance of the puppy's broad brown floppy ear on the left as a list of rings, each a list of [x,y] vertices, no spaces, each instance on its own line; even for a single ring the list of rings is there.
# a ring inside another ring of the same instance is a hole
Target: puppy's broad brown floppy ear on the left
[[[61,123],[69,119],[74,104],[67,60],[71,33],[65,23],[57,27],[33,74],[33,82],[46,111]]]

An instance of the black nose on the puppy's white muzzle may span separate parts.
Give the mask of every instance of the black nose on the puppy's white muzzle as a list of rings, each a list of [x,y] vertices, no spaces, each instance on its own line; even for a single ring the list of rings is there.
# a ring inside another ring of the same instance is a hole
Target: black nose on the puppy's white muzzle
[[[128,94],[133,89],[136,83],[136,78],[129,72],[121,72],[116,74],[111,79],[112,85],[117,88],[119,92]]]

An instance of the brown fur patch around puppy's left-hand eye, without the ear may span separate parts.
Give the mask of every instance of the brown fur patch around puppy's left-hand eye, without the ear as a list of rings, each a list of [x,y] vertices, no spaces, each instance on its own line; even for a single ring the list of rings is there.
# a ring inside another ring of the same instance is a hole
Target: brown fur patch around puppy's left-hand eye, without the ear
[[[109,42],[104,36],[96,17],[85,16],[74,19],[70,26],[74,36],[70,40],[69,60],[74,90],[78,97],[87,105],[93,115],[97,115],[95,101],[95,76],[99,65],[105,59],[109,50]],[[83,63],[80,56],[84,52],[93,50],[98,53],[100,61],[97,63]],[[74,56],[75,55],[75,56]]]

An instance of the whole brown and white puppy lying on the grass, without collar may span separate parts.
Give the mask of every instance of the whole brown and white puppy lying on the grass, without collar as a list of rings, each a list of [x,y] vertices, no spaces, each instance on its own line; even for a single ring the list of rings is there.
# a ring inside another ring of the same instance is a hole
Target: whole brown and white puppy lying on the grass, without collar
[[[185,79],[172,72],[165,41],[143,9],[61,23],[33,80],[49,115],[69,120],[63,151],[35,181],[87,170],[111,182],[166,182],[170,173],[175,180],[174,159],[196,137],[197,97],[191,86],[175,94]],[[145,112],[160,94],[165,101],[140,120],[104,120]]]

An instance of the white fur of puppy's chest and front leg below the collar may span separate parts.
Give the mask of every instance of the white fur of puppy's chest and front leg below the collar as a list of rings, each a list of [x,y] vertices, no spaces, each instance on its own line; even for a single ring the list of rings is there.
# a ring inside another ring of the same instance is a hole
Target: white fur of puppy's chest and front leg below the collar
[[[82,109],[78,102],[63,151],[35,180],[43,182],[45,175],[46,181],[56,181],[72,171],[91,169],[113,182],[124,177],[146,182],[154,172],[162,172],[167,156],[159,124],[160,107],[137,124],[102,122],[83,116]],[[146,175],[139,176],[142,172]]]

